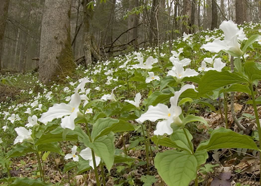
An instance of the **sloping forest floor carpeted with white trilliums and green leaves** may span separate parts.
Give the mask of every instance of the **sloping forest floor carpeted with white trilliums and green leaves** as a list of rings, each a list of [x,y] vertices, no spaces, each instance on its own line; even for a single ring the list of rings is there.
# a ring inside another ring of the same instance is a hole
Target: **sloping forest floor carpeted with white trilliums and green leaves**
[[[239,28],[79,66],[52,86],[3,75],[0,182],[259,185],[261,25]]]

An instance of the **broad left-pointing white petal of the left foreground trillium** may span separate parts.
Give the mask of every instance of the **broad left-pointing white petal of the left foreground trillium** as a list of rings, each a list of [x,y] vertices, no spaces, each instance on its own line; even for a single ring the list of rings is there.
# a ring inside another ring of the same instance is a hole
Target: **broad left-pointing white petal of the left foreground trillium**
[[[66,115],[71,115],[73,108],[65,103],[55,104],[53,107],[50,107],[46,113],[43,113],[39,122],[47,124],[54,119],[62,118]]]

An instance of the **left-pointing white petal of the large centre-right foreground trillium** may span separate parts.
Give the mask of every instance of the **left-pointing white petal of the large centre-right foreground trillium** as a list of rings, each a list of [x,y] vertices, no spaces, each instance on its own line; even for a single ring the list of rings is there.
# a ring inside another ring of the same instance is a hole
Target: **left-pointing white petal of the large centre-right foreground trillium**
[[[146,113],[141,115],[140,118],[136,120],[138,123],[143,123],[146,120],[149,120],[151,122],[155,122],[159,119],[168,119],[169,114],[169,108],[164,104],[158,104],[157,106],[149,106],[149,109]]]

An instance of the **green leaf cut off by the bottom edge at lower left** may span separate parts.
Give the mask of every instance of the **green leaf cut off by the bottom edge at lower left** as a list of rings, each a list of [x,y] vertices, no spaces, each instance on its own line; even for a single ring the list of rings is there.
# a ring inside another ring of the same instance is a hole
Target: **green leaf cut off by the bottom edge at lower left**
[[[46,184],[30,178],[16,178],[9,186],[53,186],[53,184]]]

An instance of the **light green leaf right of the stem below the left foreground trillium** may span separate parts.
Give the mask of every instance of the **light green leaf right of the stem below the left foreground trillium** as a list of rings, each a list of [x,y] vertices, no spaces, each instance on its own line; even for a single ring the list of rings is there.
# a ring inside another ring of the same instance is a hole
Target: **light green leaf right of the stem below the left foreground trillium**
[[[91,138],[94,139],[102,130],[110,127],[112,124],[118,123],[119,120],[112,118],[100,118],[93,124]]]

